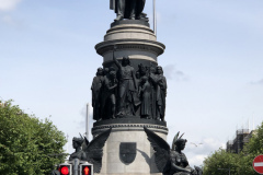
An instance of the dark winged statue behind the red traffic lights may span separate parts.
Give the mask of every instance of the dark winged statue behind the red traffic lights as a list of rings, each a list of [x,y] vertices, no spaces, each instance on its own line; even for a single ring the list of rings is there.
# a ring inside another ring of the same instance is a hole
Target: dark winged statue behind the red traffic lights
[[[102,167],[103,147],[107,140],[111,129],[96,136],[91,142],[80,135],[80,138],[73,138],[73,148],[76,151],[70,154],[69,161],[79,159],[93,164],[94,173],[100,173]]]

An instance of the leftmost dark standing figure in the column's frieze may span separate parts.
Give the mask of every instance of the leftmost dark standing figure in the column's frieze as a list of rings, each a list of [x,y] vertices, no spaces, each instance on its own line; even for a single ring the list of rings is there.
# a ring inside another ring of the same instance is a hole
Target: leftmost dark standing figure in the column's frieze
[[[93,107],[93,119],[101,119],[101,93],[103,83],[103,69],[98,68],[96,77],[93,78],[91,91],[92,91],[92,107]]]

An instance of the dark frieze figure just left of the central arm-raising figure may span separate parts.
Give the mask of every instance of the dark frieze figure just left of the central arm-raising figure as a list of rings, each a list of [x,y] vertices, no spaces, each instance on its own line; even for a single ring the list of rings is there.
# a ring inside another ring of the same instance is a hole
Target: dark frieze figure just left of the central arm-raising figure
[[[105,98],[104,104],[102,106],[110,106],[111,112],[107,112],[106,114],[111,116],[111,118],[115,118],[115,110],[116,110],[116,97],[115,94],[117,92],[117,84],[118,81],[116,79],[116,72],[110,71],[108,79],[105,79],[104,86],[105,86]],[[108,105],[107,105],[108,104]],[[106,108],[104,107],[104,110]]]

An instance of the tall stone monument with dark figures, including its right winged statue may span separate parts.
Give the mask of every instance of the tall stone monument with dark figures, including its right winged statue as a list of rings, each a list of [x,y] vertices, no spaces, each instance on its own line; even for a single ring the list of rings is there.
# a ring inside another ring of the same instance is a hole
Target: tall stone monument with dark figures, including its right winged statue
[[[186,140],[178,138],[171,150],[165,142],[168,84],[158,65],[165,46],[150,28],[142,12],[145,2],[110,0],[116,19],[104,40],[95,45],[103,57],[103,68],[98,68],[91,85],[95,120],[92,135],[96,138],[111,128],[101,170],[95,173],[201,175],[197,167],[188,166],[181,152]]]

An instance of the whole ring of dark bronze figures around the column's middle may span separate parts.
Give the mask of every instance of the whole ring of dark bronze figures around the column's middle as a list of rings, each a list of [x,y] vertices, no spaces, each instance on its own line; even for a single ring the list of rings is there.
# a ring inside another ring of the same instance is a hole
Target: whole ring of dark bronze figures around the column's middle
[[[138,116],[164,121],[167,79],[162,67],[138,65],[136,71],[129,57],[115,67],[99,68],[92,82],[93,119]]]

